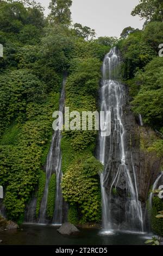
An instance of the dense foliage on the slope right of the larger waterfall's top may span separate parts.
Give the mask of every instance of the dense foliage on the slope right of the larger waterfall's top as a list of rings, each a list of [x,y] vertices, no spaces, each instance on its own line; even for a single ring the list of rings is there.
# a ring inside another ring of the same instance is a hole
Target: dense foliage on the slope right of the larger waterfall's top
[[[163,132],[163,58],[159,57],[162,25],[161,21],[151,21],[142,31],[131,31],[117,44],[123,59],[122,79],[129,87],[133,111],[142,115],[145,125],[160,133]],[[149,150],[160,152],[163,157],[162,140],[158,139]]]

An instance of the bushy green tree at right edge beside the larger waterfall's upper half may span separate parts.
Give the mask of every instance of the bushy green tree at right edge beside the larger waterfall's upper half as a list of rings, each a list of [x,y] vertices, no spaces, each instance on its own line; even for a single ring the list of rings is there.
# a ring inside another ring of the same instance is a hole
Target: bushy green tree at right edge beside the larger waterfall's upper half
[[[163,59],[160,57],[153,58],[144,70],[135,76],[135,82],[141,84],[141,89],[132,102],[133,109],[135,113],[143,115],[145,124],[162,132]]]

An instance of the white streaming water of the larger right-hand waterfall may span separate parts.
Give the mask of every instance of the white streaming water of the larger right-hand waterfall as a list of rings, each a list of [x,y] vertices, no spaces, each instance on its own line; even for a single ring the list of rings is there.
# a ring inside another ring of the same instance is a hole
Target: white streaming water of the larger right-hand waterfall
[[[116,175],[113,180],[109,180],[110,191],[106,192],[105,182],[108,181],[111,168],[109,172],[106,172],[107,162],[106,159],[106,137],[100,133],[100,153],[99,160],[104,164],[105,170],[101,174],[101,191],[102,191],[102,208],[103,208],[103,228],[105,230],[112,229],[112,217],[110,210],[110,198],[112,188],[116,188],[121,174],[126,180],[126,190],[130,194],[126,203],[126,222],[130,223],[131,229],[139,229],[143,231],[143,218],[141,203],[139,202],[137,192],[137,181],[135,168],[133,164],[133,170],[128,169],[126,164],[127,152],[125,151],[125,133],[122,123],[123,106],[126,104],[126,89],[122,84],[116,81],[118,77],[118,68],[120,64],[120,57],[118,56],[116,48],[112,49],[106,54],[103,62],[103,81],[101,88],[101,111],[111,111],[111,122],[114,123],[114,131],[111,132],[110,148],[108,158],[112,161],[114,159],[113,149],[120,151],[120,164],[117,168]],[[116,138],[117,145],[113,145],[113,139]],[[118,148],[118,149],[117,149]],[[133,161],[131,156],[131,161]],[[132,175],[131,175],[132,174]],[[108,188],[108,186],[107,186]]]

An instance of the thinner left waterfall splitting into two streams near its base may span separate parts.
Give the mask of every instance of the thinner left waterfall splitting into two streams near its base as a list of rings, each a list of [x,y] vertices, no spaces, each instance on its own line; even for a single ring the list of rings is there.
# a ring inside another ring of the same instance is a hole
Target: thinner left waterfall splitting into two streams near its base
[[[64,112],[64,103],[65,103],[65,82],[66,77],[64,77],[64,81],[62,84],[62,92],[60,97],[60,112]],[[51,148],[49,150],[49,154],[47,156],[46,163],[46,184],[43,192],[41,207],[40,207],[40,217],[39,223],[47,223],[47,199],[48,199],[48,187],[49,181],[53,173],[57,176],[57,188],[56,188],[56,197],[55,197],[55,209],[53,216],[54,224],[62,223],[62,192],[61,192],[61,131],[57,130],[53,134]]]

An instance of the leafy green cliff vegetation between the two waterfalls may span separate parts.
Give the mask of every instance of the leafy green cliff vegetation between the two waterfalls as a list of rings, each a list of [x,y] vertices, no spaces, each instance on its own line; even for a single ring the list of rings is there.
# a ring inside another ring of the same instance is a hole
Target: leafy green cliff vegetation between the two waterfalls
[[[96,95],[101,78],[101,61],[91,57],[92,51],[86,54],[86,58],[77,56],[73,59],[73,69],[66,82],[66,106],[70,107],[70,111],[81,114],[83,111],[97,110]],[[103,167],[93,156],[96,135],[95,131],[65,131],[62,137],[62,193],[70,205],[78,205],[78,212],[70,208],[69,217],[73,222],[101,220],[98,174]]]

